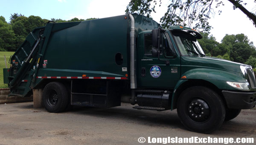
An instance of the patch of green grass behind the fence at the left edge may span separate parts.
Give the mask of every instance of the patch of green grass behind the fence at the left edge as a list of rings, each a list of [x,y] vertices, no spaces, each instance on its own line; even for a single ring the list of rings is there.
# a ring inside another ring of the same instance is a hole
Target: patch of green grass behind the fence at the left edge
[[[7,84],[3,84],[3,68],[10,67],[10,64],[8,63],[9,58],[11,55],[13,55],[14,52],[3,52],[0,51],[0,88],[7,88]],[[4,55],[6,56],[6,65],[4,61]]]

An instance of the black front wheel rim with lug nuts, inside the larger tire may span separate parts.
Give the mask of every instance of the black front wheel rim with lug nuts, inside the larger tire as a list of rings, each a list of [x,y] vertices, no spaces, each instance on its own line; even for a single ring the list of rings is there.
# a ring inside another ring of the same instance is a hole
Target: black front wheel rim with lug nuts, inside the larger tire
[[[202,99],[194,99],[188,105],[189,118],[198,123],[206,122],[210,116],[210,108]]]

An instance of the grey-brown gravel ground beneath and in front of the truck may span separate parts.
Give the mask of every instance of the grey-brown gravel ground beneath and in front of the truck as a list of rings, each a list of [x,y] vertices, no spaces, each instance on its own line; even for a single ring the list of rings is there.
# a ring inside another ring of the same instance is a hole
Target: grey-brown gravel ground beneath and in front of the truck
[[[256,142],[256,110],[242,110],[219,130],[201,134],[187,131],[176,110],[136,110],[122,103],[108,109],[76,107],[48,113],[33,108],[33,102],[0,104],[0,145],[142,145],[138,138],[148,136],[254,137]]]

